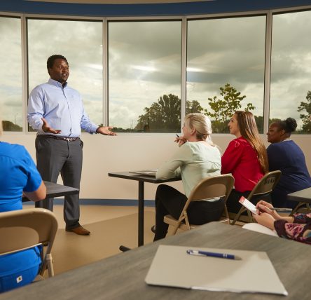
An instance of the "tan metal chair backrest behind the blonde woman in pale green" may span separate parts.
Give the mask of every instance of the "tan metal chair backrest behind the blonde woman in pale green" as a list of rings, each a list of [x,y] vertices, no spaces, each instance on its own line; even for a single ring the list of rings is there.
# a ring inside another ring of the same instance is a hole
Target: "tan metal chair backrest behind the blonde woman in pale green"
[[[225,202],[230,195],[235,179],[232,175],[219,175],[202,179],[188,196],[184,210],[188,208],[191,201],[205,200],[210,198],[224,198]],[[184,211],[183,210],[183,211]]]

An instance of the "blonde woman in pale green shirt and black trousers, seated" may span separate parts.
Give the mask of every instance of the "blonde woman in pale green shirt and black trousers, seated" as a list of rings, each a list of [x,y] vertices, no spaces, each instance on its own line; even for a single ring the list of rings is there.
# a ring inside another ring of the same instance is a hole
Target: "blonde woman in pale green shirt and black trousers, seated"
[[[183,136],[175,142],[179,149],[158,169],[157,179],[169,179],[181,176],[184,192],[172,186],[160,184],[155,193],[155,237],[154,240],[165,238],[168,224],[163,217],[171,214],[179,218],[191,190],[203,178],[220,175],[221,154],[211,139],[212,123],[204,114],[188,114],[185,117]],[[223,199],[202,200],[191,203],[188,207],[188,219],[191,224],[205,224],[218,221],[223,213]]]

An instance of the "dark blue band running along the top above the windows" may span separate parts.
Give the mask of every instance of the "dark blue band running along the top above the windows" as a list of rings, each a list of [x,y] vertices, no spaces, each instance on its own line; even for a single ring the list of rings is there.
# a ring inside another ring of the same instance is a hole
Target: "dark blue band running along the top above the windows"
[[[311,5],[310,0],[214,0],[169,4],[73,4],[1,0],[0,11],[81,16],[165,16],[234,13]]]

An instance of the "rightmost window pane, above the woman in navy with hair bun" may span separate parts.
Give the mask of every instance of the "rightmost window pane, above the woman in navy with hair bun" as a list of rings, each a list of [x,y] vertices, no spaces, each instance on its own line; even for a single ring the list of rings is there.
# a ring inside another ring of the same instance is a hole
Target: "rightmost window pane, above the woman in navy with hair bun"
[[[273,15],[270,119],[295,118],[310,133],[311,11]]]

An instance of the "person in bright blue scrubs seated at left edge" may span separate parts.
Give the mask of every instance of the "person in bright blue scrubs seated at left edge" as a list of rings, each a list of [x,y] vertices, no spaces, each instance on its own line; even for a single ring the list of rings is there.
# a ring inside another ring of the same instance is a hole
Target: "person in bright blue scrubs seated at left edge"
[[[0,214],[22,210],[23,193],[30,200],[42,200],[46,198],[46,186],[24,146],[0,141]],[[34,280],[41,264],[40,250],[34,247],[0,256],[0,292]]]

